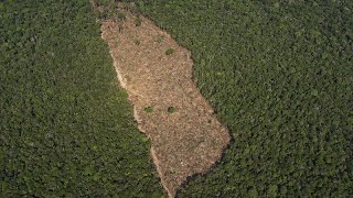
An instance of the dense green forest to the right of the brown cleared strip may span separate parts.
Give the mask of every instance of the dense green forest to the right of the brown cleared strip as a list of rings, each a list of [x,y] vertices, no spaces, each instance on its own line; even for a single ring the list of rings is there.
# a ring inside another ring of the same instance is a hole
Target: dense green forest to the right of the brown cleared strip
[[[353,1],[143,0],[233,136],[179,197],[353,195]]]

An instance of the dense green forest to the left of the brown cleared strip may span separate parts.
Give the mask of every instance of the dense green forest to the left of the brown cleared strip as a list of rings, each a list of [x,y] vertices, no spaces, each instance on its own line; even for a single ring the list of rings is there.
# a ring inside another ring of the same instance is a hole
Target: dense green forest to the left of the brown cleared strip
[[[0,3],[0,197],[163,195],[87,1]]]

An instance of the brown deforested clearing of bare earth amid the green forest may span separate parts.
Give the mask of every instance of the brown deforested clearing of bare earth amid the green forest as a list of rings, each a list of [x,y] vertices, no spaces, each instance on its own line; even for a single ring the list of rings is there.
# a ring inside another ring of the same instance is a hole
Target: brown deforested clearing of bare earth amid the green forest
[[[133,103],[139,129],[151,141],[151,155],[169,197],[189,176],[205,173],[221,158],[229,134],[192,81],[191,53],[152,21],[131,13],[104,21],[120,85]],[[174,53],[165,52],[173,48]]]

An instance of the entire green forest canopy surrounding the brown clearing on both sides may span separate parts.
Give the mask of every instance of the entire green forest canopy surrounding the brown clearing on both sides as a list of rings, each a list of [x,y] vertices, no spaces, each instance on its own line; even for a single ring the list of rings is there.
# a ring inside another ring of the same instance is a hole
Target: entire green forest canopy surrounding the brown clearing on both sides
[[[176,197],[353,196],[353,1],[125,2],[191,51],[232,135]],[[100,37],[108,15],[0,1],[0,197],[165,197]]]

